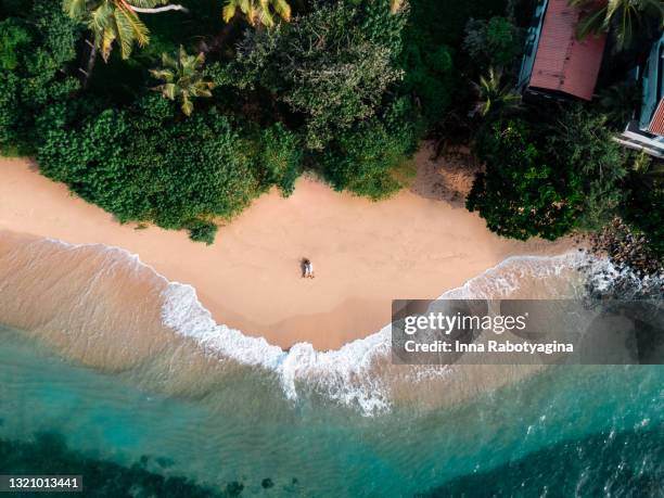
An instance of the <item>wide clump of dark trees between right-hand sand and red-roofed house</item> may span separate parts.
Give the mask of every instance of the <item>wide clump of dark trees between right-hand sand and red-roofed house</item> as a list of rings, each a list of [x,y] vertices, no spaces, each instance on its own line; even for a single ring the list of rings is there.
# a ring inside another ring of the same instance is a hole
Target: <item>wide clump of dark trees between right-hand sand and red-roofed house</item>
[[[551,129],[499,120],[480,139],[486,162],[467,201],[493,231],[525,240],[556,239],[575,228],[602,227],[623,199],[625,153],[605,117],[563,111]]]

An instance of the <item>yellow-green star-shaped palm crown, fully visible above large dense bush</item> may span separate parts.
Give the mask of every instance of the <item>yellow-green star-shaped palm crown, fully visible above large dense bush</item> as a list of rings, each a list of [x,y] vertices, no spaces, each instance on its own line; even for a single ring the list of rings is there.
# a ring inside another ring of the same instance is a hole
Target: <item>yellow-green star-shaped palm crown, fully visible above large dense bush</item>
[[[212,97],[215,84],[206,81],[203,74],[205,55],[189,55],[182,46],[174,59],[167,53],[162,54],[161,69],[152,69],[150,74],[164,84],[155,87],[164,97],[173,101],[181,101],[182,112],[190,116],[193,111],[192,99],[196,97]]]

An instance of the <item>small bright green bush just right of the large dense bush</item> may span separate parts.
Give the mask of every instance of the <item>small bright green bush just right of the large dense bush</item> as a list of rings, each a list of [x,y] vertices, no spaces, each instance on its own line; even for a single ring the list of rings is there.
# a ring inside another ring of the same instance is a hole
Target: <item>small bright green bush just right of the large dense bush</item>
[[[295,135],[278,123],[260,133],[260,151],[256,159],[256,176],[264,189],[279,187],[288,197],[295,190],[302,173],[301,144]]]

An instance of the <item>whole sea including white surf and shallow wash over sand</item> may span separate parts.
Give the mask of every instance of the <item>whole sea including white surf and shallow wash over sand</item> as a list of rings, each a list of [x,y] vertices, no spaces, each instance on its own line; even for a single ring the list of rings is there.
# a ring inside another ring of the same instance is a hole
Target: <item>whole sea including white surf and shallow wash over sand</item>
[[[3,472],[82,473],[86,496],[110,497],[664,496],[662,366],[478,381],[392,366],[385,330],[282,352],[210,322],[188,286],[154,277],[161,310],[124,302],[122,268],[143,283],[148,270],[86,251],[0,254],[14,261],[0,281],[14,323],[0,325]],[[103,271],[67,269],[81,258]],[[574,295],[570,261],[515,258],[445,295]]]

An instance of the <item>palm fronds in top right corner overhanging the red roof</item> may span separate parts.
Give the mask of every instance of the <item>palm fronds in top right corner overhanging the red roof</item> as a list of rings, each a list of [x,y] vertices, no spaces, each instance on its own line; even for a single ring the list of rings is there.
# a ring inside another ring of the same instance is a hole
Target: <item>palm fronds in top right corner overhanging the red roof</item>
[[[644,25],[644,17],[652,16],[660,28],[663,26],[664,4],[661,0],[570,0],[570,5],[589,10],[578,23],[578,38],[608,33],[614,27],[618,50],[629,46],[634,34]]]

